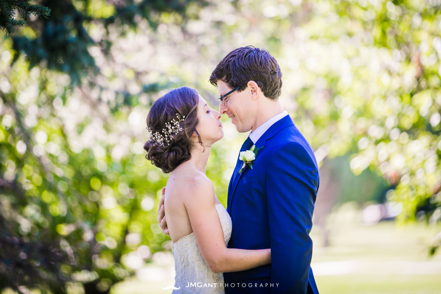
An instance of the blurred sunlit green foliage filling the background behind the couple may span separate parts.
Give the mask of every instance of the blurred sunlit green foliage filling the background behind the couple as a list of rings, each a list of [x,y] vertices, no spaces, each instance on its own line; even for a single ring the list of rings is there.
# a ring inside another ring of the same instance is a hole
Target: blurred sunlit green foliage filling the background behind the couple
[[[0,41],[0,289],[108,292],[171,242],[156,207],[168,175],[144,157],[167,89],[234,48],[268,49],[281,103],[321,161],[352,154],[396,189],[401,220],[441,218],[439,0],[38,1]],[[229,123],[207,176],[225,204],[245,134]],[[369,187],[363,187],[368,189]],[[24,288],[23,288],[24,287]]]

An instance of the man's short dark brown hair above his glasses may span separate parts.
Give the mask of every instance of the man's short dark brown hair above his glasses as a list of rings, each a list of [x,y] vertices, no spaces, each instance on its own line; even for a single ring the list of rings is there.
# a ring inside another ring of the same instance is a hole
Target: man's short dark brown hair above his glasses
[[[265,97],[279,98],[282,88],[282,72],[277,60],[268,51],[254,46],[234,49],[217,65],[210,76],[210,83],[217,86],[221,80],[234,89],[243,91],[249,81],[257,83]]]

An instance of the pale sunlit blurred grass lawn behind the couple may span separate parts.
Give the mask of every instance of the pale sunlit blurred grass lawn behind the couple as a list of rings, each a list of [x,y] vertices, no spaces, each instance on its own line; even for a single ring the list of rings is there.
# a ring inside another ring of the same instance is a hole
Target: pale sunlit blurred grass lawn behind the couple
[[[357,211],[346,206],[329,216],[328,227],[328,247],[321,246],[320,227],[314,226],[310,234],[311,266],[321,294],[441,293],[441,254],[428,256],[428,245],[441,225],[380,222],[366,226],[359,222]],[[159,258],[149,268],[151,275],[162,272],[162,280],[132,278],[116,284],[111,294],[171,293],[161,289],[167,279],[173,279],[170,259]]]

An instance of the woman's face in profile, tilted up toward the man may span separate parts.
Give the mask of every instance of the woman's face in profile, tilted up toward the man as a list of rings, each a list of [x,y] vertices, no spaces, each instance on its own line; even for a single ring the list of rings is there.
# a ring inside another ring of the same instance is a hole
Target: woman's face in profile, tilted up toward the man
[[[198,131],[199,136],[201,136],[204,145],[211,146],[214,142],[219,141],[224,137],[221,114],[210,108],[201,95],[199,95],[198,102],[198,119],[199,122],[196,126],[196,130]],[[196,142],[198,142],[197,139]]]

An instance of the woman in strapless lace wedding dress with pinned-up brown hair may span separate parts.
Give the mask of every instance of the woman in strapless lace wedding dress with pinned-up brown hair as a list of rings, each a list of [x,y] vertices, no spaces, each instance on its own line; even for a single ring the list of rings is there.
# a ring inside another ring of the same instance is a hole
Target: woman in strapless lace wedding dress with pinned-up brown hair
[[[223,136],[221,114],[195,89],[173,89],[147,116],[146,158],[170,177],[164,207],[175,260],[173,293],[224,293],[223,272],[271,263],[271,249],[227,248],[232,222],[206,177],[214,142]]]

